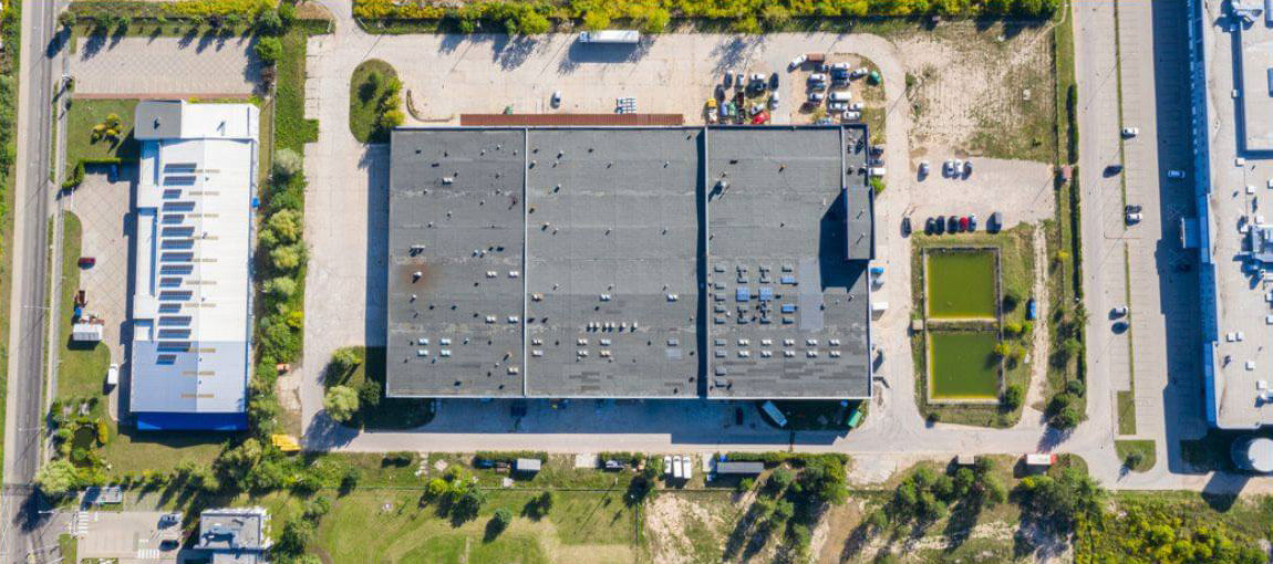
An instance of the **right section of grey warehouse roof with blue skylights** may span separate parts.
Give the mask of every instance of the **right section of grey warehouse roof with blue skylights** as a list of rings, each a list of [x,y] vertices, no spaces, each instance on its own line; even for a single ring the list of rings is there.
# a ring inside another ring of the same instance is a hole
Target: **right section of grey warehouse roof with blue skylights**
[[[844,258],[872,236],[845,224],[869,218],[862,131],[709,134],[709,396],[871,393],[867,261]]]

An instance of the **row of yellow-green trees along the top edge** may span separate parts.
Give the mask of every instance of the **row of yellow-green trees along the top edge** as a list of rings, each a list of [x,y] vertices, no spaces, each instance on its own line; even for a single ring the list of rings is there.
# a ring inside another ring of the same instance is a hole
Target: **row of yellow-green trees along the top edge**
[[[466,33],[477,29],[477,22],[503,25],[510,34],[538,34],[549,31],[551,22],[578,22],[587,29],[608,28],[621,19],[647,33],[662,32],[672,18],[735,20],[740,32],[780,28],[792,18],[863,18],[863,17],[1050,17],[1059,0],[574,0],[550,1],[482,1],[458,8],[435,4],[398,3],[395,0],[358,0],[354,15],[364,19],[442,20],[452,19]]]

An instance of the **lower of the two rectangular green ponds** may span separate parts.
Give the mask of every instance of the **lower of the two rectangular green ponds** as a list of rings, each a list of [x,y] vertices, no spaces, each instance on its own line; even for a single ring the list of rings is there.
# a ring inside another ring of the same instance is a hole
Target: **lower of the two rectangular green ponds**
[[[994,331],[929,331],[928,395],[932,400],[998,400]]]

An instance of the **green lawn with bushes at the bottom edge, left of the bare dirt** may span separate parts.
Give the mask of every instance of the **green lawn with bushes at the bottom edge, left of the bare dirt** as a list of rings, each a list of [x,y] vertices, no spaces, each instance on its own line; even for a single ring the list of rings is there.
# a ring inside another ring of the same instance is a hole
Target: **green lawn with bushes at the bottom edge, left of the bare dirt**
[[[419,491],[359,490],[335,499],[311,545],[325,561],[554,563],[630,561],[636,513],[622,493],[558,491],[545,518],[523,513],[538,491],[491,490],[476,519],[454,526]],[[490,537],[498,508],[516,516]],[[281,530],[281,522],[275,530]],[[376,531],[376,541],[368,532]]]

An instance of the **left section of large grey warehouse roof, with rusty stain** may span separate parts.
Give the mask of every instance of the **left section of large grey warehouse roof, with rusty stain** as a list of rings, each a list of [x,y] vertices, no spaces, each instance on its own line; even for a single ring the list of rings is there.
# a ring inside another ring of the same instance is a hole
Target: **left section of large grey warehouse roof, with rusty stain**
[[[390,396],[521,396],[523,130],[397,130]]]

